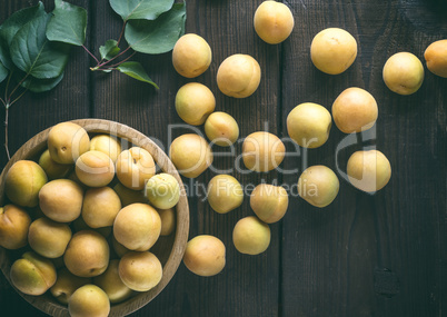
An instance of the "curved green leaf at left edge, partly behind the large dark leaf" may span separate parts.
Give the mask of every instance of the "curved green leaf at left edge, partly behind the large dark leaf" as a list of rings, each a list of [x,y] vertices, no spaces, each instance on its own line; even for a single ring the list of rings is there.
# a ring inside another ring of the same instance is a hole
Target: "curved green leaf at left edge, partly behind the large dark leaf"
[[[9,17],[0,29],[0,61],[8,69],[13,67],[11,57],[9,55],[9,46],[12,42],[16,33],[32,19],[43,16],[44,8],[42,2],[30,8],[19,10]]]

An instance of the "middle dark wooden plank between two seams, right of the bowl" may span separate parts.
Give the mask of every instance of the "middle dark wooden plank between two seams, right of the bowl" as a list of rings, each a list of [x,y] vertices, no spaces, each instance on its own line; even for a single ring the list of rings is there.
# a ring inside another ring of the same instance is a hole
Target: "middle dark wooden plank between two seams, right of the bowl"
[[[208,86],[217,99],[217,110],[229,112],[240,126],[240,136],[265,129],[277,132],[277,96],[279,83],[278,48],[267,46],[257,38],[252,28],[252,16],[260,1],[195,1],[187,2],[187,32],[202,36],[210,44],[213,61],[210,69],[197,79],[185,79],[176,73],[171,55],[148,57],[137,55],[160,86],[155,91],[121,75],[98,75],[93,82],[95,117],[118,120],[157,139],[168,149],[171,140],[188,129],[176,129],[169,133],[169,123],[181,123],[175,110],[177,90],[189,81]],[[99,30],[93,39],[97,50],[109,38],[117,38],[121,22],[105,1],[97,1],[97,19],[93,29]],[[247,99],[225,97],[217,88],[216,73],[220,62],[229,55],[242,52],[254,56],[262,68],[262,81],[258,91]],[[202,128],[200,128],[202,132]],[[238,155],[241,143],[238,145]],[[235,158],[216,159],[218,168],[230,168]],[[276,175],[248,176],[234,172],[245,185],[258,184],[261,179],[272,180]],[[207,171],[196,181],[183,179],[188,187],[198,187],[203,195],[215,172]],[[201,186],[201,187],[200,187]],[[249,199],[241,208],[228,215],[218,215],[203,201],[202,196],[190,197],[190,237],[210,234],[220,238],[227,247],[225,270],[211,278],[192,275],[183,265],[168,287],[147,307],[135,316],[276,316],[278,313],[279,275],[279,226],[274,225],[272,241],[268,251],[257,257],[242,256],[232,246],[232,228],[242,216],[252,215]]]

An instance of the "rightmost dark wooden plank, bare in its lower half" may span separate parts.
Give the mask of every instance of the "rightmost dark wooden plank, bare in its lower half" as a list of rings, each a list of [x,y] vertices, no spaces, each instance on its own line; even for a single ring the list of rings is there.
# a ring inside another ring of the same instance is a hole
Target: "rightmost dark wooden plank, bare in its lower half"
[[[297,24],[284,46],[282,131],[288,112],[305,101],[330,110],[335,98],[357,86],[379,105],[372,139],[337,146],[346,135],[334,126],[328,142],[286,167],[324,164],[341,172],[350,153],[376,145],[390,160],[393,178],[374,196],[339,175],[340,191],[327,208],[294,198],[282,230],[284,316],[443,316],[446,285],[446,102],[447,82],[426,72],[409,97],[389,91],[381,69],[388,57],[425,48],[445,37],[445,19],[430,1],[294,1]],[[414,14],[419,12],[420,14]],[[417,19],[415,19],[417,17]],[[445,17],[445,16],[444,16]],[[310,61],[314,36],[340,27],[357,39],[359,56],[339,76]],[[306,164],[307,161],[307,164]],[[286,176],[295,184],[298,175]]]

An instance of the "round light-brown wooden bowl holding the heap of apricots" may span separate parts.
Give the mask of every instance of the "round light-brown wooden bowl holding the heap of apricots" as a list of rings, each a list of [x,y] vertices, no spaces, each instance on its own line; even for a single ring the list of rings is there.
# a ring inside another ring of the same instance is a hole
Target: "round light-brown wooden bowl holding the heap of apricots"
[[[130,299],[111,305],[109,316],[126,316],[130,313],[141,308],[149,301],[151,301],[169,283],[183,257],[186,244],[188,241],[189,232],[189,208],[188,199],[181,178],[167,157],[167,155],[147,136],[143,133],[118,122],[99,120],[99,119],[83,119],[73,120],[72,122],[82,126],[89,135],[92,133],[107,133],[121,138],[121,140],[128,140],[135,146],[139,146],[148,150],[158,167],[162,171],[172,175],[180,185],[180,200],[176,207],[177,227],[176,231],[168,237],[160,237],[157,244],[151,248],[151,252],[156,254],[163,266],[163,275],[160,283],[149,291],[139,293]],[[4,198],[4,177],[11,166],[21,159],[37,160],[40,153],[47,148],[48,133],[51,128],[38,133],[28,142],[26,142],[11,158],[11,160],[4,167],[0,176],[0,204],[3,205]],[[121,141],[122,142],[122,141]],[[10,268],[13,260],[23,254],[23,249],[20,250],[6,250],[0,247],[0,268],[8,279],[10,280]],[[69,316],[68,308],[59,304],[49,291],[41,296],[29,296],[17,290],[26,300],[40,310],[52,316]]]

